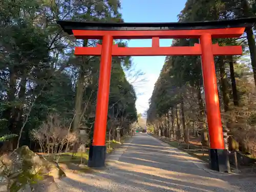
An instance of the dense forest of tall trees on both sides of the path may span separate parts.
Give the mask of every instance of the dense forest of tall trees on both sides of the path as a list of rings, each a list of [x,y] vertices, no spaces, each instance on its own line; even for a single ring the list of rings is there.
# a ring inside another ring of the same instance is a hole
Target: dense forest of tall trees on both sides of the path
[[[123,22],[120,1],[5,0],[0,2],[0,141],[1,150],[30,148],[60,141],[66,144],[85,129],[93,135],[99,57],[75,57],[75,46],[100,41],[76,40],[57,20]],[[221,20],[256,14],[253,1],[187,0],[178,22]],[[255,154],[256,46],[254,28],[237,39],[214,39],[219,45],[242,45],[243,56],[215,57],[226,146]],[[174,39],[172,46],[191,46],[198,39]],[[126,46],[126,42],[113,42]],[[108,114],[108,136],[129,133],[136,124],[136,94],[127,74],[130,57],[114,57]],[[136,73],[135,73],[136,74]],[[157,132],[188,142],[189,135],[208,145],[200,57],[166,57],[147,111],[147,124]],[[58,134],[56,134],[58,133]],[[61,134],[60,134],[61,133]]]

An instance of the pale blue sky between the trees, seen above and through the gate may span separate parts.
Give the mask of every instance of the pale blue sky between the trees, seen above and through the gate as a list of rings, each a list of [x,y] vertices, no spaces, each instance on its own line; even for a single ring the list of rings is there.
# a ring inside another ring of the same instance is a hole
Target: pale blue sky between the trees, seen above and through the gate
[[[177,15],[184,8],[185,3],[186,0],[121,0],[121,13],[124,22],[177,22]],[[151,39],[129,41],[129,47],[151,47],[151,44]],[[172,39],[160,40],[161,47],[168,47],[171,44]],[[137,111],[144,113],[148,109],[148,100],[163,67],[165,56],[132,57],[132,59],[135,64],[135,71],[142,71],[144,75],[140,78],[146,79],[145,82],[138,79],[137,82],[133,83],[138,97]]]

